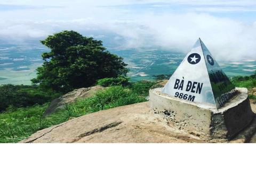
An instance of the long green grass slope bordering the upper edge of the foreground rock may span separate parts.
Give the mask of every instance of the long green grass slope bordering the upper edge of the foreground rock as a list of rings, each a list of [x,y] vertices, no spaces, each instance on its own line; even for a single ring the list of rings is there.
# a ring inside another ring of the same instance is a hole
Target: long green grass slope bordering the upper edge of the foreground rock
[[[104,91],[98,91],[93,97],[62,106],[62,110],[44,118],[42,118],[42,115],[49,104],[14,110],[9,108],[4,114],[0,114],[0,142],[18,142],[38,130],[49,128],[74,117],[146,101],[148,92],[145,92],[145,90],[148,91],[150,85],[149,82],[142,82],[133,84],[130,87],[131,89],[122,86],[109,87]]]

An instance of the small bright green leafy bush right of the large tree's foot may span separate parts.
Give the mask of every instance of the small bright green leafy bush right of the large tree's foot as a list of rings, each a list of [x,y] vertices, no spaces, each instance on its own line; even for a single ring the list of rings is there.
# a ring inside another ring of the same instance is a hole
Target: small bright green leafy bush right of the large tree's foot
[[[109,86],[127,86],[129,84],[130,78],[124,77],[123,75],[117,78],[105,78],[98,80],[98,85],[103,87]]]

